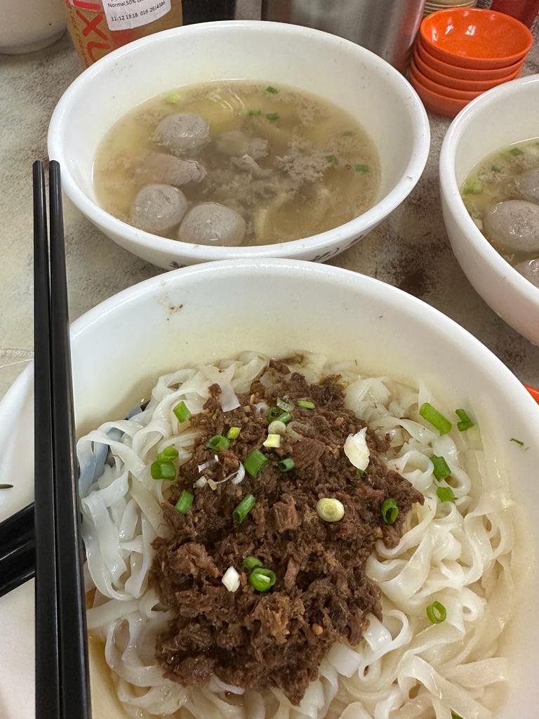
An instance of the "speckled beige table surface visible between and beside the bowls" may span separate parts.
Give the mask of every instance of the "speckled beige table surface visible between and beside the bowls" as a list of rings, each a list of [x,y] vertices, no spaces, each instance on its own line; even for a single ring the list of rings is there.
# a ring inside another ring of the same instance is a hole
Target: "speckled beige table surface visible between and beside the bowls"
[[[538,42],[525,65],[526,74],[534,72]],[[0,55],[0,396],[32,357],[32,162],[46,157],[52,109],[78,73],[67,35],[32,55]],[[430,157],[418,186],[331,264],[413,293],[471,331],[520,380],[539,385],[539,347],[479,298],[451,252],[438,191],[438,153],[449,122],[430,116]],[[117,247],[68,201],[65,237],[73,319],[161,271]]]

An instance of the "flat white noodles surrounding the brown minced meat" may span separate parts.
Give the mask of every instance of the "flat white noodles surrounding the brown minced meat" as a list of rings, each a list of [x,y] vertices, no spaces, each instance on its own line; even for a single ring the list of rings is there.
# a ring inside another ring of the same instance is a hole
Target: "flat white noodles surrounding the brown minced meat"
[[[507,678],[497,643],[518,587],[512,503],[496,472],[488,470],[477,429],[441,437],[418,414],[420,403],[431,400],[428,388],[418,392],[387,377],[361,377],[355,362],[330,366],[308,353],[292,369],[311,382],[340,372],[347,406],[372,429],[389,434],[388,466],[425,495],[423,507],[414,505],[408,514],[398,546],[388,549],[379,541],[367,562],[367,574],[382,590],[383,621],[369,618],[359,646],[338,644],[328,651],[300,707],[278,690],[264,697],[218,677],[203,689],[163,677],[154,647],[171,613],[160,606],[147,577],[152,541],[166,531],[160,510],[165,482],[152,480],[149,465],[170,444],[178,449],[178,464],[190,457],[198,434],[189,421],[178,423],[172,412],[178,402],[198,413],[210,385],[219,383],[228,411],[266,367],[265,357],[244,352],[164,375],[144,411],[106,422],[78,442],[85,571],[88,589],[96,587],[88,628],[106,644],[126,714],[451,719],[453,710],[468,719],[492,718],[489,690]],[[446,459],[455,504],[438,501],[430,454]],[[425,607],[434,600],[446,607],[447,618],[431,625]]]

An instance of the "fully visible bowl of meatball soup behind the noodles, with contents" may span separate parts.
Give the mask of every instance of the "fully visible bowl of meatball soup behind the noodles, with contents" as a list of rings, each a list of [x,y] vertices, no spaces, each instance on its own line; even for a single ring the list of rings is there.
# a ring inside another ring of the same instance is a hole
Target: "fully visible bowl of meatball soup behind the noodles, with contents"
[[[269,22],[121,47],[68,88],[48,137],[75,206],[167,269],[327,260],[404,200],[429,142],[418,96],[384,60]]]

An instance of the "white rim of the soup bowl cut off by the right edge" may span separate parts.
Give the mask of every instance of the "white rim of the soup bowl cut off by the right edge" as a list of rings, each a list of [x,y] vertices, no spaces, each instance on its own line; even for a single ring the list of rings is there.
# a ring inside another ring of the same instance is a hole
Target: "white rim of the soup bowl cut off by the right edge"
[[[499,97],[511,93],[515,88],[520,88],[528,84],[539,84],[539,73],[526,75],[523,78],[516,78],[508,83],[487,90],[459,112],[453,122],[451,122],[446,136],[443,138],[440,152],[439,175],[442,196],[460,232],[466,237],[466,242],[471,244],[483,262],[486,262],[494,272],[498,275],[502,275],[507,282],[510,283],[513,290],[524,295],[528,301],[535,303],[539,311],[539,288],[522,277],[522,275],[515,270],[515,267],[512,267],[512,265],[499,254],[497,249],[492,247],[488,239],[484,237],[484,234],[479,230],[479,227],[476,226],[464,206],[455,173],[456,148],[466,132],[469,120],[475,115],[476,110],[479,109],[479,105],[488,107],[492,104],[494,106],[497,104]]]

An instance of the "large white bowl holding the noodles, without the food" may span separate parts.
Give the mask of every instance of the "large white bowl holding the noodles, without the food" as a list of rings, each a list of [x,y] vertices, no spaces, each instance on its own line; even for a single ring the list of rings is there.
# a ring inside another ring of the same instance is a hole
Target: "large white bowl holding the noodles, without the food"
[[[539,407],[471,334],[372,278],[293,260],[198,265],[147,280],[93,308],[73,324],[71,338],[78,434],[123,416],[158,375],[185,362],[241,349],[274,355],[310,349],[333,359],[357,358],[365,372],[422,381],[449,407],[472,407],[485,450],[510,477],[517,503],[531,513],[539,503]],[[0,493],[0,519],[32,499],[32,398],[30,367],[0,403],[0,482],[15,485]],[[539,523],[530,521],[527,529],[517,553],[527,543],[539,544]],[[510,682],[497,719],[531,719],[530,707],[539,703],[538,595],[539,572],[533,572],[508,633]],[[30,585],[0,600],[3,719],[33,717],[32,611]],[[100,676],[93,675],[94,716],[116,719]]]

